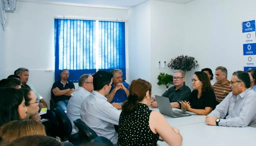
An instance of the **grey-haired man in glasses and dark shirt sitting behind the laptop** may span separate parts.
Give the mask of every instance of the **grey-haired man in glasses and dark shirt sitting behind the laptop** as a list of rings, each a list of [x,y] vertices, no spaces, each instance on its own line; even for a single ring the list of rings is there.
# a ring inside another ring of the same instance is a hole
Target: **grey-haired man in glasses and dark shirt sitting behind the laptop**
[[[173,74],[173,87],[170,87],[162,95],[163,97],[168,97],[172,108],[180,108],[180,101],[189,101],[191,90],[188,86],[184,84],[185,73],[183,70],[176,70]],[[151,107],[158,107],[156,99],[153,98],[151,102]]]

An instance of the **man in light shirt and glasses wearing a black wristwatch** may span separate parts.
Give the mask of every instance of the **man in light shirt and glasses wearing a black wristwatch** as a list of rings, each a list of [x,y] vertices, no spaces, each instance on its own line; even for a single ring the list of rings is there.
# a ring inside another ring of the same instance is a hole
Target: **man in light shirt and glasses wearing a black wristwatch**
[[[230,83],[232,92],[206,116],[206,124],[256,128],[256,93],[250,88],[249,74],[235,71]],[[229,118],[224,119],[227,114]]]

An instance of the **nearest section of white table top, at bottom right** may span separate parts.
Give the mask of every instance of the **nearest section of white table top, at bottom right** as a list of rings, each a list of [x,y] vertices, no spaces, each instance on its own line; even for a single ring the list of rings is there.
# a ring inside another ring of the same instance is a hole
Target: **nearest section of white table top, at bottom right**
[[[205,122],[176,127],[183,136],[182,146],[254,145],[256,128],[208,126]],[[218,139],[216,139],[218,137]],[[159,146],[168,146],[158,141]]]

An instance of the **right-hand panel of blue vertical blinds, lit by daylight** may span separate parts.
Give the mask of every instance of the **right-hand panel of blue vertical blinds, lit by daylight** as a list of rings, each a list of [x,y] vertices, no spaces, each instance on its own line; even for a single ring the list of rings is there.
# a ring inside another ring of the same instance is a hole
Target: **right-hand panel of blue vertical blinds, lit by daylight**
[[[99,21],[99,70],[125,72],[125,23]]]

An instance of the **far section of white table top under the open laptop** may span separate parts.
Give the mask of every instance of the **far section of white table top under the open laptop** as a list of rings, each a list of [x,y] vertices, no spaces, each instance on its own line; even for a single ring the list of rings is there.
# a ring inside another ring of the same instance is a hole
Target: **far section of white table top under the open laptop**
[[[158,108],[151,108],[150,107],[149,109],[159,112]],[[182,111],[182,110],[176,109],[176,108],[172,108],[172,109]],[[206,116],[198,115],[198,114],[195,114],[193,112],[188,112],[188,111],[186,111],[186,112],[189,113],[189,114],[192,114],[192,115],[187,116],[187,117],[179,117],[179,118],[172,118],[172,117],[166,116],[164,114],[163,114],[163,116],[165,117],[165,119],[167,120],[169,125],[172,126],[172,127],[205,122],[205,117]]]

